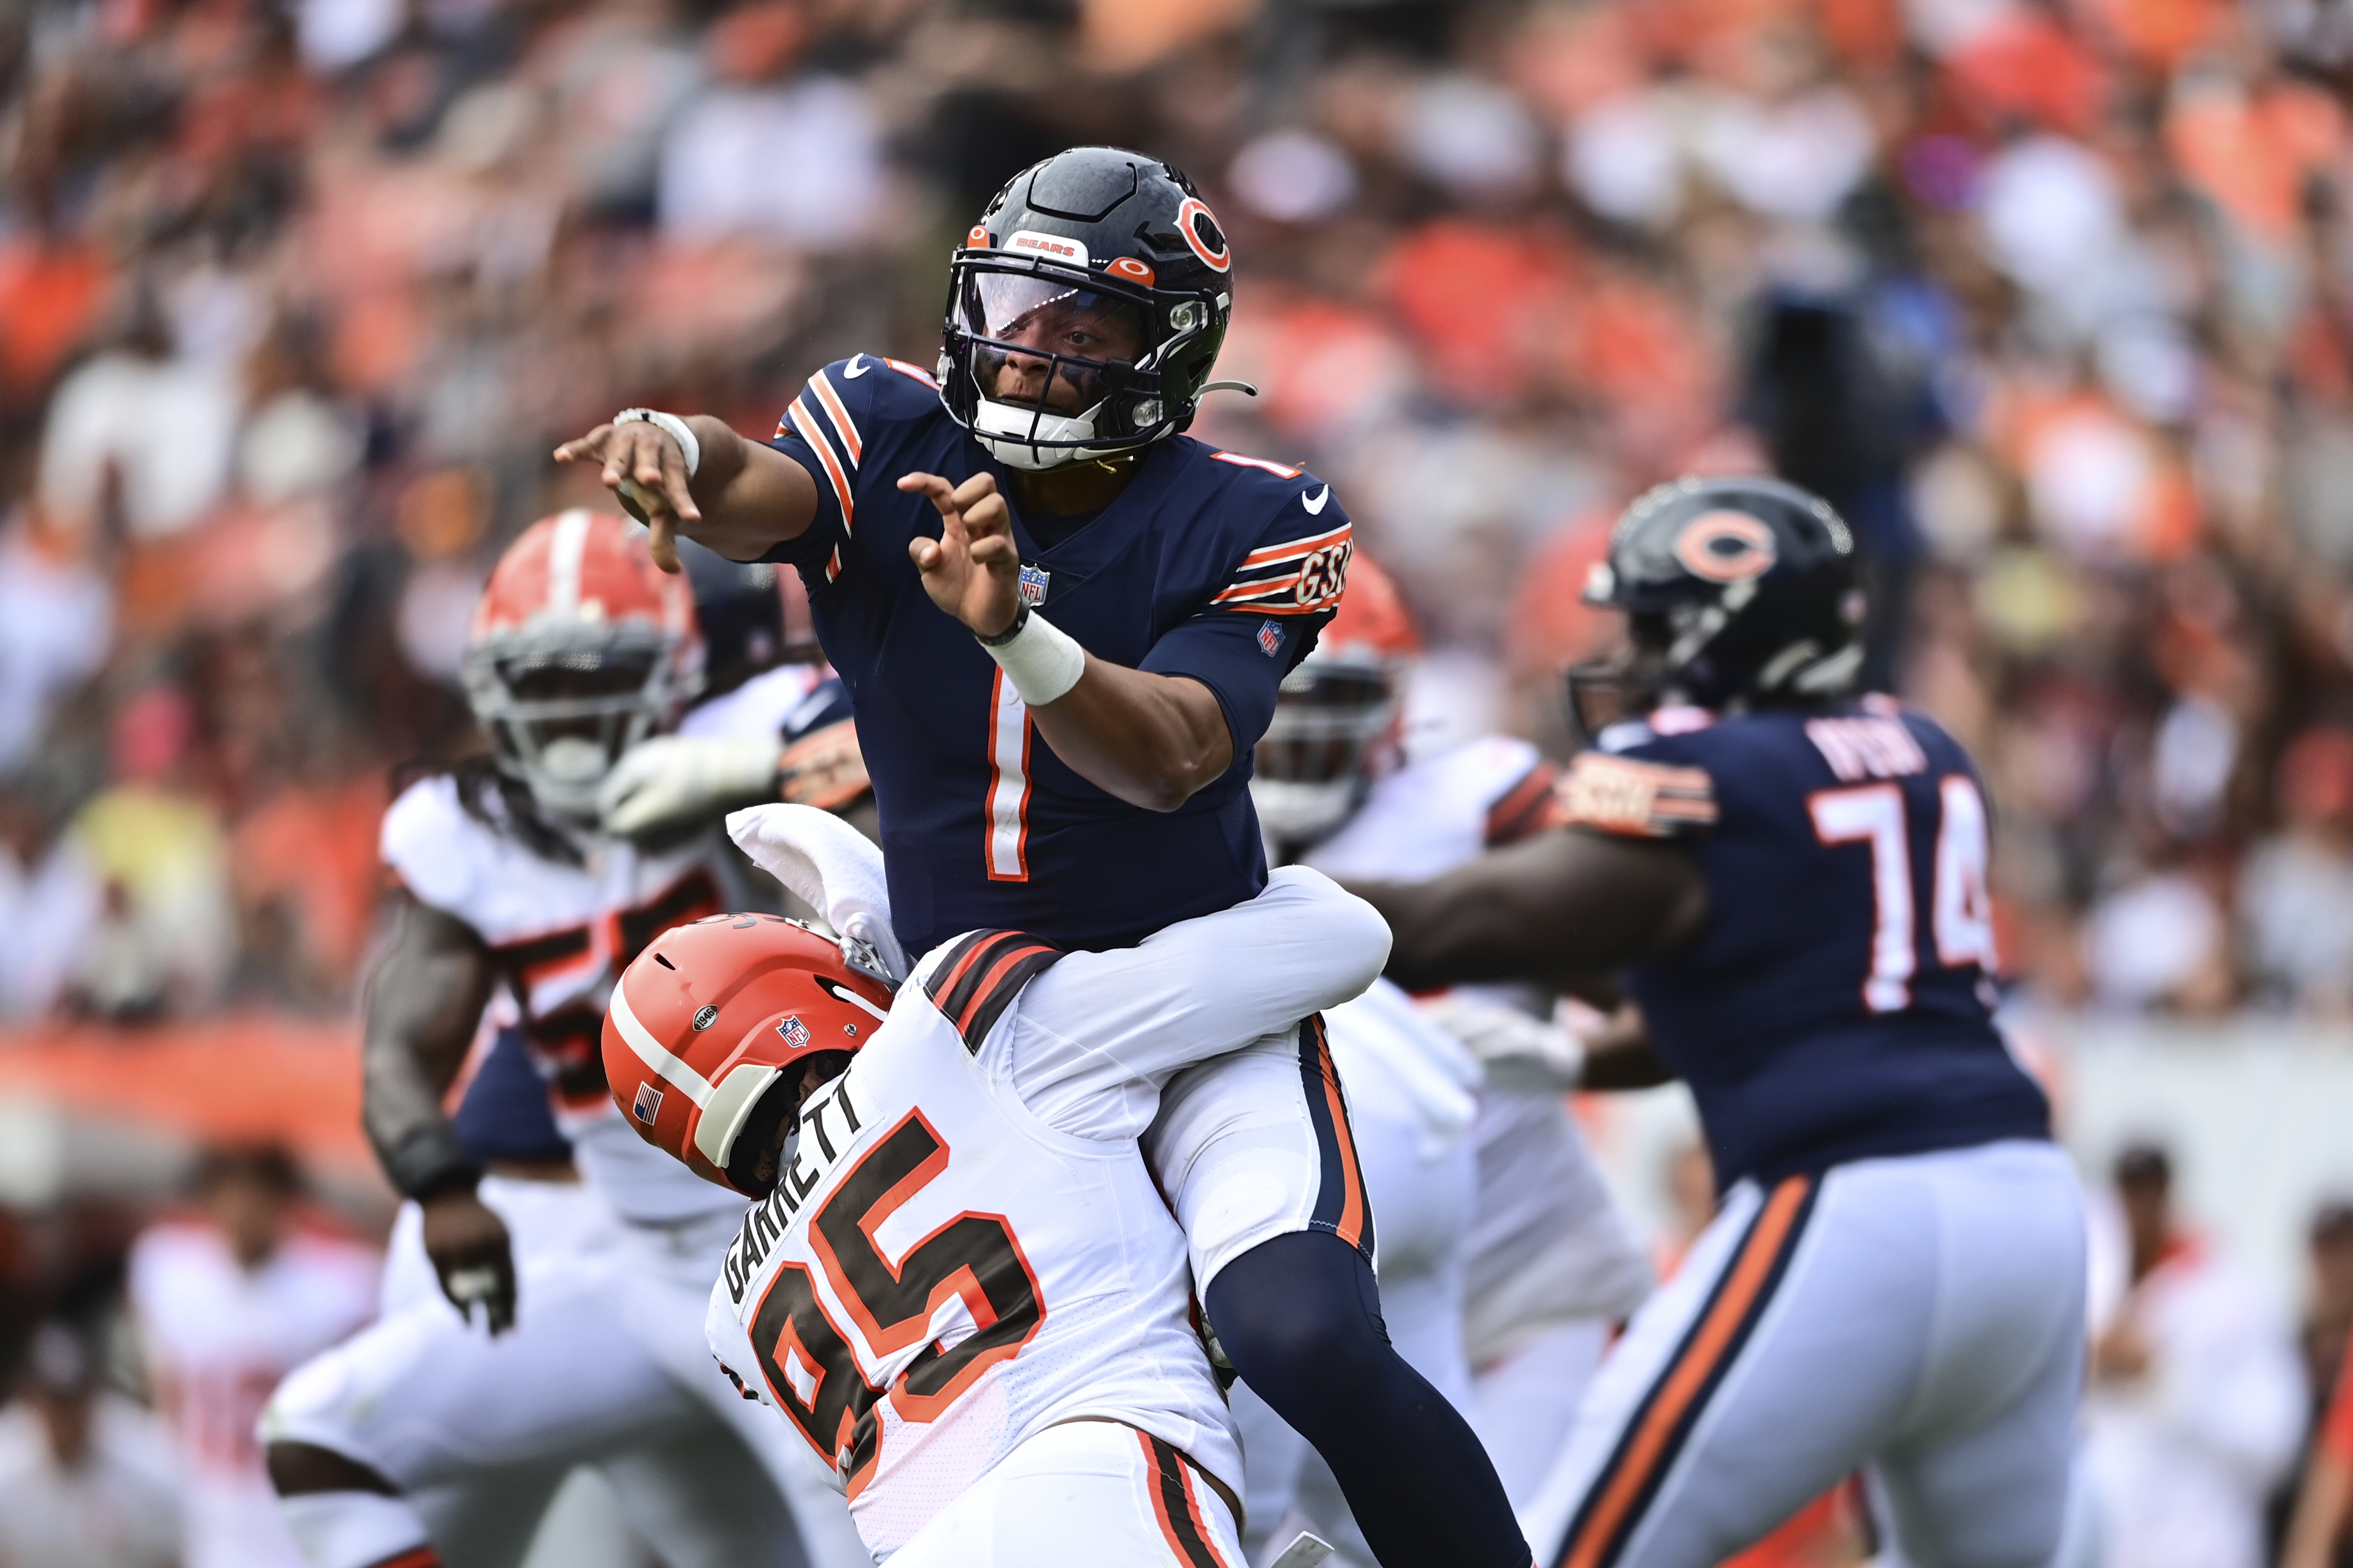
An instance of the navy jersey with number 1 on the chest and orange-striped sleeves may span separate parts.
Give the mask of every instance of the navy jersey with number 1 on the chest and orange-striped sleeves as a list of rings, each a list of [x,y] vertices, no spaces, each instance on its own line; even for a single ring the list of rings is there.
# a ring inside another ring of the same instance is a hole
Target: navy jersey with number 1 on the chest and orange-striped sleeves
[[[1009,489],[927,374],[868,355],[828,364],[772,444],[816,480],[816,522],[769,559],[800,569],[856,708],[908,952],[981,926],[1120,947],[1266,886],[1249,757],[1346,581],[1348,515],[1329,484],[1172,437],[1052,545],[1007,494],[1024,599],[1096,658],[1188,675],[1226,712],[1233,766],[1155,813],[1054,757],[995,661],[925,595],[908,543],[939,538],[939,510],[899,477],[986,470]]]

